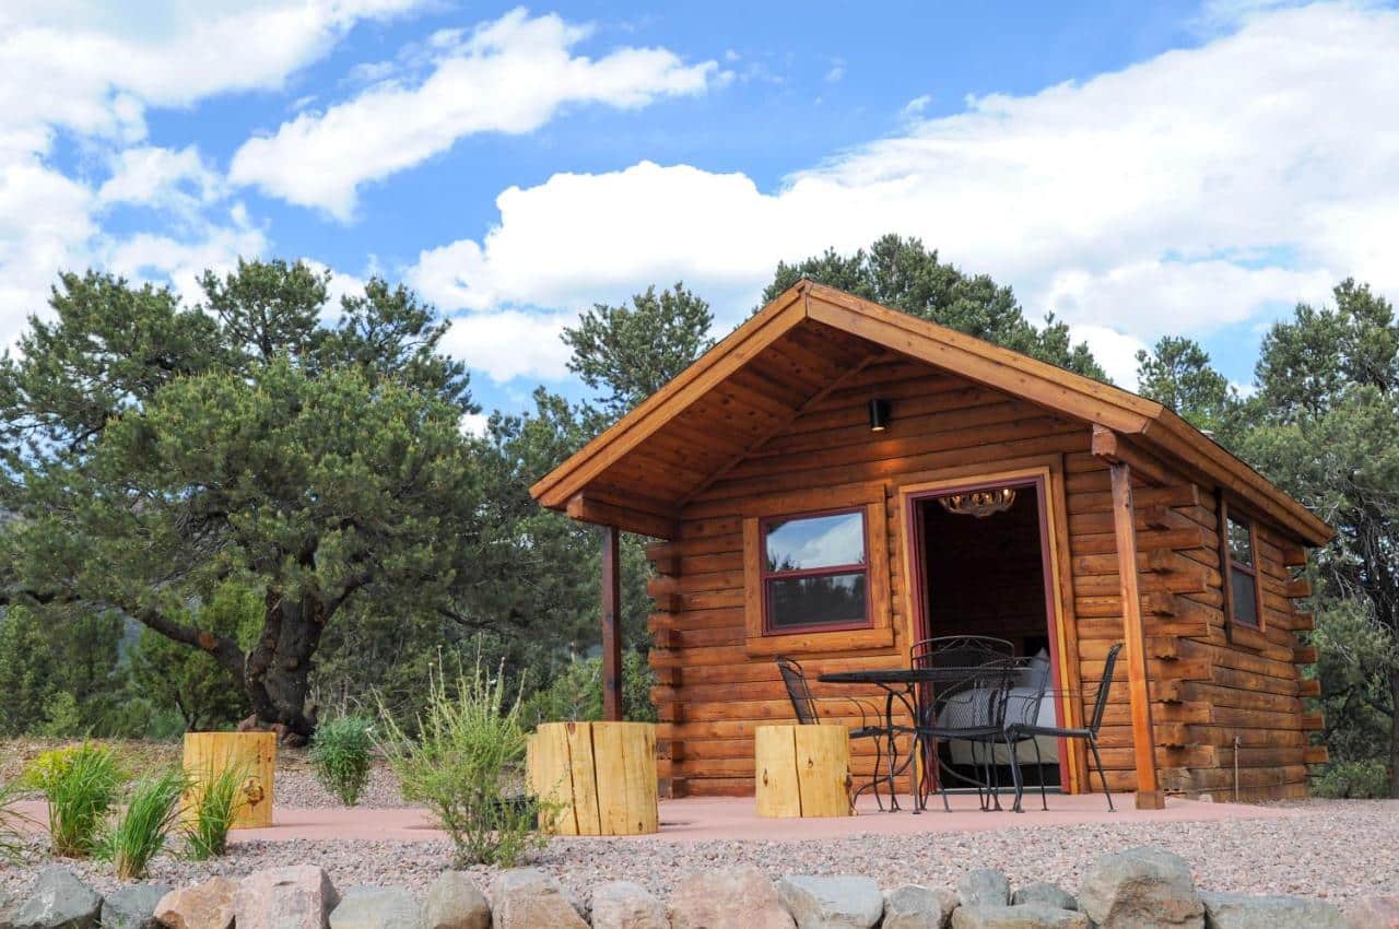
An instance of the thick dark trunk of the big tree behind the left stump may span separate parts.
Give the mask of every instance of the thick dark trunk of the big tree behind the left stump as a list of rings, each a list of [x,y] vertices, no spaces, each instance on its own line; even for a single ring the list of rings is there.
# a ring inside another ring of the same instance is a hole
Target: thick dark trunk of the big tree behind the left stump
[[[267,592],[263,634],[248,655],[243,687],[257,722],[284,728],[291,742],[304,742],[316,728],[308,712],[312,655],[320,645],[325,606],[313,599],[284,599]]]

